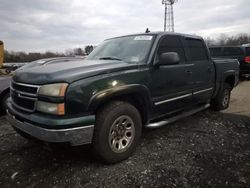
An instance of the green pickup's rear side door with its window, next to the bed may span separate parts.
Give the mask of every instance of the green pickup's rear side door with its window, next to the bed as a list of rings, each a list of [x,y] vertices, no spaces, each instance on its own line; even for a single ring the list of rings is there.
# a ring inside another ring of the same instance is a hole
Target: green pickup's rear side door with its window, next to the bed
[[[193,99],[194,102],[207,102],[215,84],[214,63],[203,40],[185,38],[185,50],[188,62],[193,64]]]

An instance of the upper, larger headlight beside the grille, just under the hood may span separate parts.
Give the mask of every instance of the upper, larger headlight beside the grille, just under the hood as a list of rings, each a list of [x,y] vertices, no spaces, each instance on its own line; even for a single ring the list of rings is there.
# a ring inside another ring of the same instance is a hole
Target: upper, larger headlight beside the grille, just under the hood
[[[48,84],[41,86],[38,94],[52,97],[64,97],[68,84]]]

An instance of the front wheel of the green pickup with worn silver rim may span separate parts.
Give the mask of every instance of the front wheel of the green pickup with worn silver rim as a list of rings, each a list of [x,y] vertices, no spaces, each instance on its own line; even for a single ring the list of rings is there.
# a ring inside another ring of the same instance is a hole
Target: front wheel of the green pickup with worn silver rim
[[[122,101],[107,104],[96,115],[95,156],[109,164],[127,159],[135,151],[141,129],[141,117],[134,106]]]

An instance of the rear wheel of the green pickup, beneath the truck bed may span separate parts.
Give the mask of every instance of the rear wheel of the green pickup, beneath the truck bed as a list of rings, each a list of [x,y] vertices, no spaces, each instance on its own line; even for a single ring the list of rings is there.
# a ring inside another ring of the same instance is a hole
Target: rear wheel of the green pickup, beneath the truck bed
[[[224,83],[217,96],[212,100],[211,107],[216,111],[227,109],[230,103],[231,90],[231,85]]]

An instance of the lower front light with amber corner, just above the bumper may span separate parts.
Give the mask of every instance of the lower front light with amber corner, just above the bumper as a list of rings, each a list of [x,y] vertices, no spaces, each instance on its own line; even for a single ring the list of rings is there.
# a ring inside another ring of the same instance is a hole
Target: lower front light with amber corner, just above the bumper
[[[64,103],[55,104],[43,101],[37,101],[36,110],[44,113],[55,114],[55,115],[64,115],[65,107]]]

